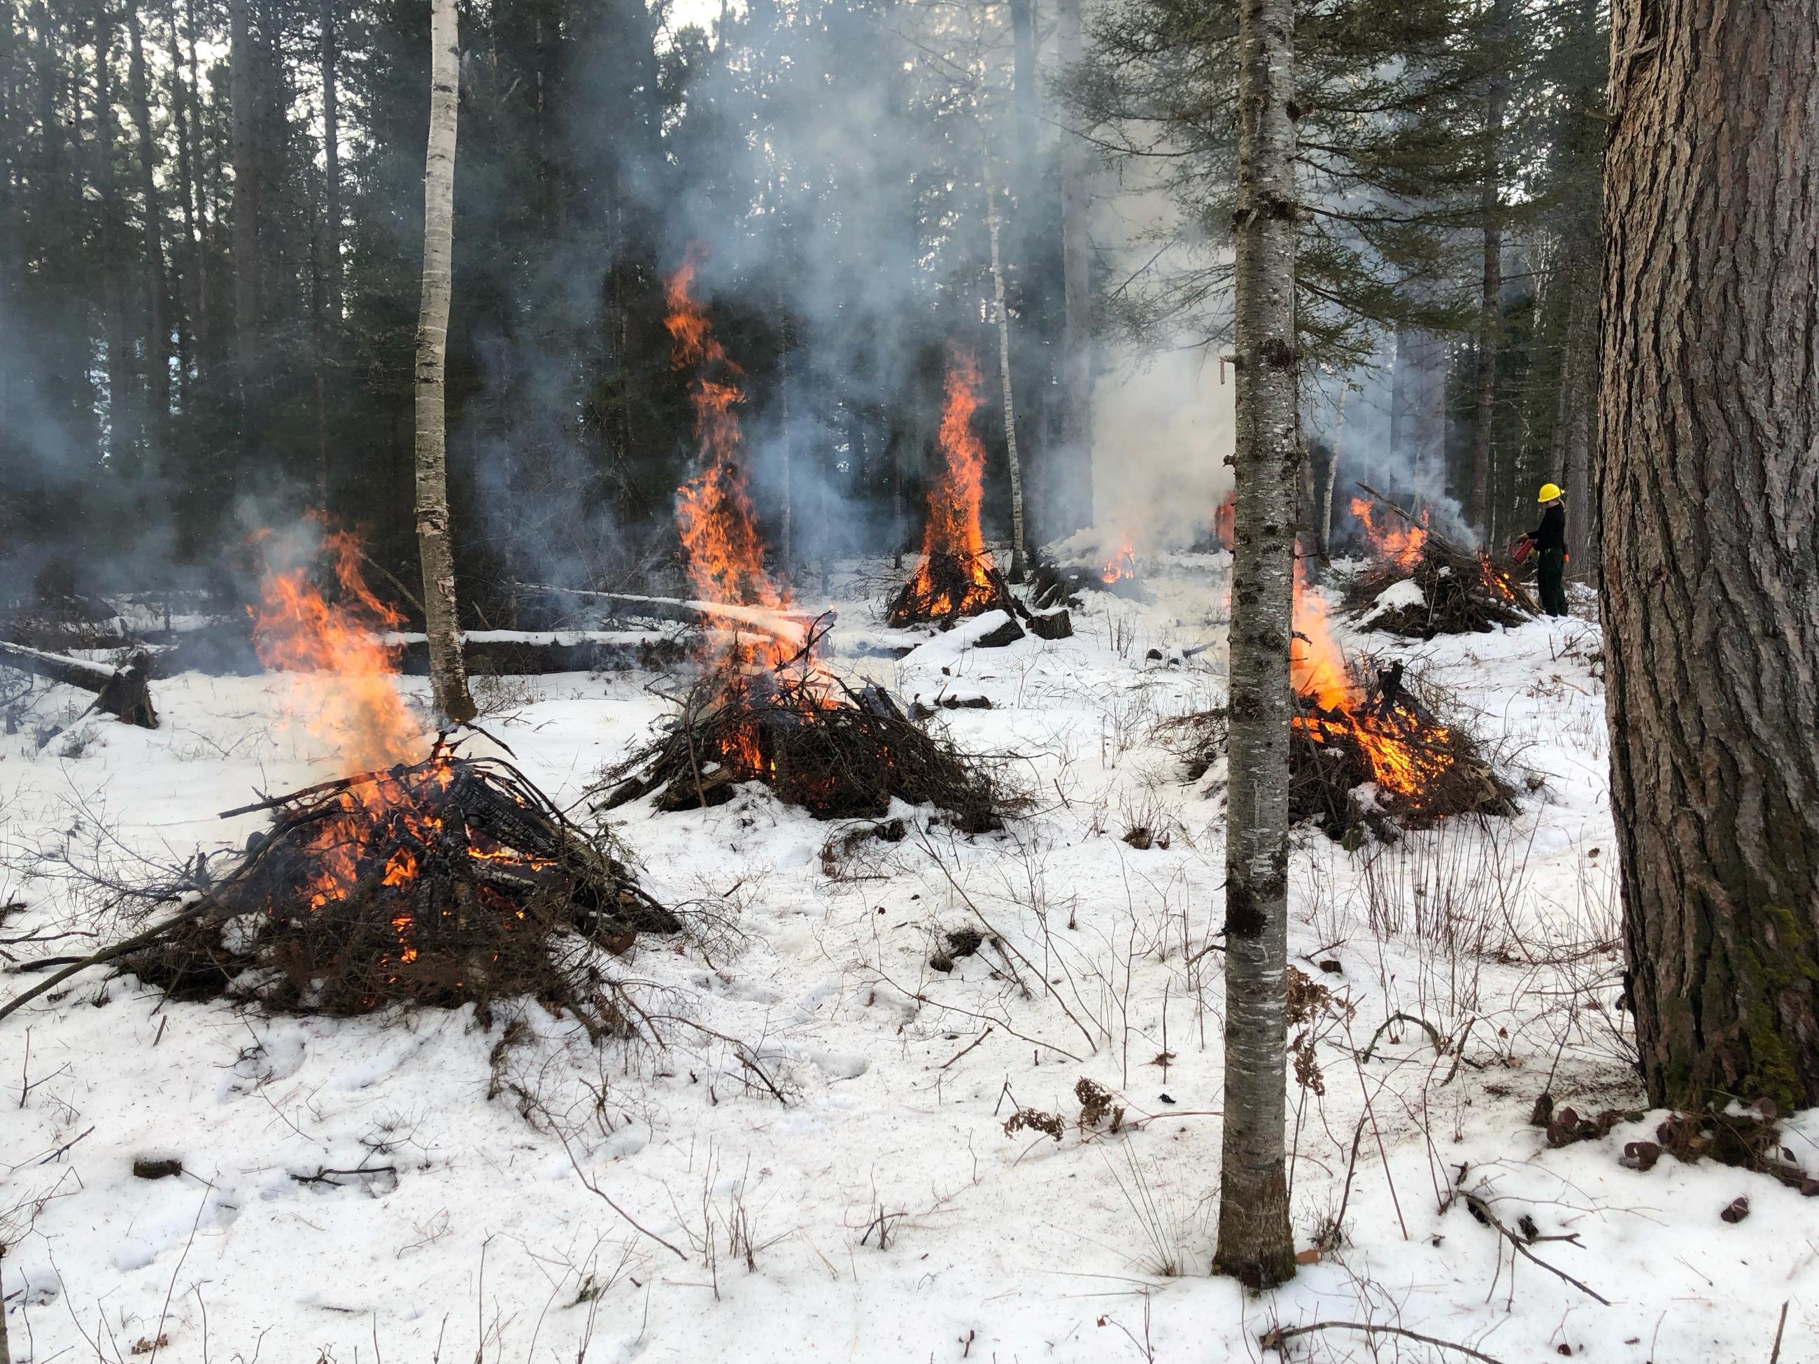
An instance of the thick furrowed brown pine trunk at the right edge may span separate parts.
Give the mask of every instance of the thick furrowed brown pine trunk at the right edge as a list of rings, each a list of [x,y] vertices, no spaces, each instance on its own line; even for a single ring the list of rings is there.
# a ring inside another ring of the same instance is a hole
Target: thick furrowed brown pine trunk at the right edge
[[[1819,9],[1617,0],[1599,406],[1653,1104],[1819,1104]]]

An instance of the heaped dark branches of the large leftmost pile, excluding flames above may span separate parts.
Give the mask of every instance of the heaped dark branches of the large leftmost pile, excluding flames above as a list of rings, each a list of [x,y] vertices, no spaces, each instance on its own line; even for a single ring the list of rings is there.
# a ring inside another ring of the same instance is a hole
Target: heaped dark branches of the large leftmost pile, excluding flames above
[[[186,908],[142,935],[129,971],[176,998],[358,1015],[391,1004],[537,998],[591,1035],[622,1031],[597,949],[677,933],[615,847],[515,767],[440,744],[395,766],[262,800],[226,875],[204,858]]]

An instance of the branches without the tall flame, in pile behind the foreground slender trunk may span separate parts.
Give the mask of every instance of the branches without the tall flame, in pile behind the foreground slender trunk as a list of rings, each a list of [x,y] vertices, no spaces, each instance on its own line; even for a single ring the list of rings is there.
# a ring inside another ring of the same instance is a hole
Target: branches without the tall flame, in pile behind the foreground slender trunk
[[[1368,829],[1393,842],[1457,815],[1513,815],[1515,789],[1459,726],[1441,724],[1402,686],[1402,664],[1377,673],[1357,709],[1330,711],[1297,697],[1288,749],[1288,817],[1335,842]],[[1228,715],[1199,711],[1168,722],[1191,782],[1226,758]],[[1413,773],[1410,789],[1379,780],[1368,746],[1393,744]]]

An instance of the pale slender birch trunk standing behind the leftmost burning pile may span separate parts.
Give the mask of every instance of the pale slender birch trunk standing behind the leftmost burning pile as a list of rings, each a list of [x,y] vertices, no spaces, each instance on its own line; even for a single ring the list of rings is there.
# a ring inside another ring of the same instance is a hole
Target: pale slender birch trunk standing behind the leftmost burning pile
[[[449,544],[447,398],[455,242],[455,118],[460,105],[460,36],[455,0],[429,0],[429,149],[424,165],[424,302],[417,320],[417,553],[424,569],[424,629],[437,709],[471,720],[473,698],[455,620],[455,549]]]

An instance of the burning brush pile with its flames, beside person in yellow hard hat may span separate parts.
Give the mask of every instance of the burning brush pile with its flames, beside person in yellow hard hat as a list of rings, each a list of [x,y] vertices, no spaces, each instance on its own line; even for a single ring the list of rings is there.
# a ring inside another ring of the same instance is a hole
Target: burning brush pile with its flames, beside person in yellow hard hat
[[[1470,553],[1448,544],[1375,493],[1352,498],[1352,515],[1364,527],[1373,555],[1372,566],[1352,580],[1344,597],[1359,629],[1432,640],[1435,635],[1482,635],[1499,626],[1521,626],[1537,615],[1523,586],[1492,564],[1482,549]],[[1379,515],[1395,520],[1379,522]]]

